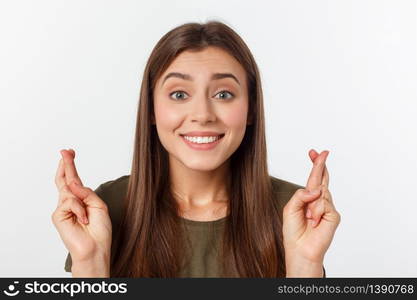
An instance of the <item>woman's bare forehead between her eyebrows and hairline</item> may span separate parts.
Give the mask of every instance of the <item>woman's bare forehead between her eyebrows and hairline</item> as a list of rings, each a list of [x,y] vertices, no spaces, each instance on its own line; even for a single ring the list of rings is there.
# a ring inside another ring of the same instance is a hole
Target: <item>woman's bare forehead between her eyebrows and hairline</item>
[[[225,50],[218,47],[206,47],[203,50],[185,50],[168,66],[161,78],[169,72],[188,73],[192,76],[210,75],[217,72],[231,72],[241,82],[245,79],[245,69]]]

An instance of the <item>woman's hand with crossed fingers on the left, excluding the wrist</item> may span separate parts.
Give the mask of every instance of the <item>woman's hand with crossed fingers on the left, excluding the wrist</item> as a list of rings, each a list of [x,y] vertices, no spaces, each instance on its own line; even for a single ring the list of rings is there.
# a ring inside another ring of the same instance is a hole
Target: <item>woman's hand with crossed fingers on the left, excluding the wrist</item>
[[[112,224],[106,203],[84,187],[74,164],[75,152],[61,150],[56,172],[58,206],[52,222],[74,263],[88,263],[98,257],[110,259]]]

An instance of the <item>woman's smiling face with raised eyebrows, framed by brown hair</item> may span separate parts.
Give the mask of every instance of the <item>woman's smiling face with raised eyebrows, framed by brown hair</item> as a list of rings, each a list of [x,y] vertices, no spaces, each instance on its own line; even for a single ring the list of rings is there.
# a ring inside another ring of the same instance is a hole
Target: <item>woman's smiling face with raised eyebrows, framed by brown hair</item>
[[[246,130],[246,84],[243,67],[218,47],[179,54],[153,95],[153,122],[169,159],[200,171],[227,161]]]

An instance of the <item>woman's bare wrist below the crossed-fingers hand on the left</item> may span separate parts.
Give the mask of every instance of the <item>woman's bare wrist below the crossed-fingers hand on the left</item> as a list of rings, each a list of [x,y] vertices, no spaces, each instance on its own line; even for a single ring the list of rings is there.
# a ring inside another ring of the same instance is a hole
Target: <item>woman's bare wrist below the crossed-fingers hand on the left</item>
[[[72,277],[110,277],[110,255],[100,254],[91,259],[73,261]]]

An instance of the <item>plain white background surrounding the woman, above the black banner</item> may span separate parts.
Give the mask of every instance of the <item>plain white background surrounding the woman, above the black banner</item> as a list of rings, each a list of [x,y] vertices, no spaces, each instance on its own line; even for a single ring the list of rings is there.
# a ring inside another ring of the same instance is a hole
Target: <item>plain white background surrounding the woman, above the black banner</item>
[[[59,150],[91,188],[130,173],[156,42],[216,19],[251,49],[270,173],[305,185],[329,150],[342,221],[329,277],[417,276],[416,1],[1,1],[0,276],[67,277],[51,222]]]

